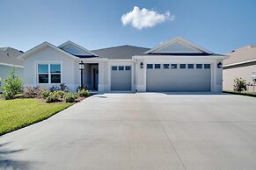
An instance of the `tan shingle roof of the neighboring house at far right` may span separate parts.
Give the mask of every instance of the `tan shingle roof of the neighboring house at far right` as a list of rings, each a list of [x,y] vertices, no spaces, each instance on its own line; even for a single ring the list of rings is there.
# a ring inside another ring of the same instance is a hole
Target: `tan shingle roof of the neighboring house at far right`
[[[241,62],[250,62],[251,60],[256,60],[256,46],[243,46],[238,48],[226,55],[230,56],[230,59],[224,60],[225,65],[234,65]]]

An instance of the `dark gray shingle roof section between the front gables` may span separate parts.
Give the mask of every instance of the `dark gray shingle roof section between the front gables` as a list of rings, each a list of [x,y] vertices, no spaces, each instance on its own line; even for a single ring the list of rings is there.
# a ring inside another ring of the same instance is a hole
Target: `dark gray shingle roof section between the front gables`
[[[92,50],[91,52],[98,54],[99,57],[108,59],[132,59],[132,56],[143,54],[148,50],[150,50],[150,48],[126,45],[102,48],[98,50]]]

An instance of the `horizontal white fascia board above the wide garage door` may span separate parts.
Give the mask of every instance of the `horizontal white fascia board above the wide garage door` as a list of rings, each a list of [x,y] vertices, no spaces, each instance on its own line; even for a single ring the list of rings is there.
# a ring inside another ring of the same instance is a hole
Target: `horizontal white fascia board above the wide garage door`
[[[144,60],[147,60],[147,59],[173,59],[173,60],[183,60],[183,59],[190,59],[190,60],[194,60],[194,59],[208,59],[208,60],[211,60],[211,59],[221,59],[221,60],[224,60],[224,59],[228,59],[229,56],[225,56],[225,55],[209,55],[209,56],[182,56],[182,55],[135,55],[133,56],[133,59],[134,60],[137,60],[137,59],[144,59]]]

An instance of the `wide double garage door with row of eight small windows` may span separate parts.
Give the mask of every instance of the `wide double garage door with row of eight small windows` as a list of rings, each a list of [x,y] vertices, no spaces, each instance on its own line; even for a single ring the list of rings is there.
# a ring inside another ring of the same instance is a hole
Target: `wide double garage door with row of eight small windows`
[[[147,91],[210,91],[210,64],[147,64]]]

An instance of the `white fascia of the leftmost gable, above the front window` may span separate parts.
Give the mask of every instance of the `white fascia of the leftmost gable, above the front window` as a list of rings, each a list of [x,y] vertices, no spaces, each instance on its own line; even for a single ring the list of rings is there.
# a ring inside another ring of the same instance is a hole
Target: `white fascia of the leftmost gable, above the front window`
[[[72,55],[72,54],[70,54],[70,53],[67,53],[67,52],[63,51],[62,49],[60,49],[60,48],[58,48],[57,46],[54,46],[54,45],[48,43],[47,41],[41,43],[41,44],[38,45],[38,46],[33,47],[32,49],[28,50],[26,53],[23,53],[23,54],[19,55],[19,56],[18,56],[18,59],[24,60],[27,56],[30,56],[30,55],[32,55],[33,53],[36,53],[36,52],[40,51],[41,49],[43,49],[43,48],[45,48],[45,47],[47,47],[47,46],[54,48],[56,51],[58,51],[58,52],[60,52],[60,53],[63,53],[63,54],[65,54],[65,55],[68,55],[69,57],[71,57],[71,58],[74,59],[74,60],[79,60],[79,58],[77,58],[76,56],[74,56],[74,55]]]

